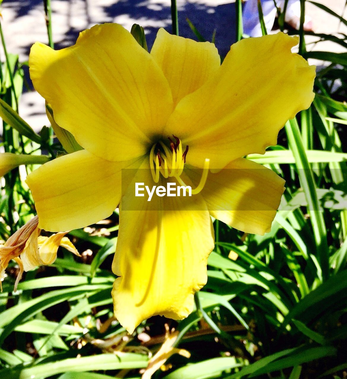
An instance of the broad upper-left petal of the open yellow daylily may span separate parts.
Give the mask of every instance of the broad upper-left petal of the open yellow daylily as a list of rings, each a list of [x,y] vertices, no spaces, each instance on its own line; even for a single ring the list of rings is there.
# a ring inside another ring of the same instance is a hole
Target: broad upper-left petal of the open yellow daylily
[[[57,124],[108,160],[145,153],[172,111],[162,71],[117,24],[95,25],[80,34],[76,45],[59,51],[36,42],[29,66],[33,85],[52,106]]]

